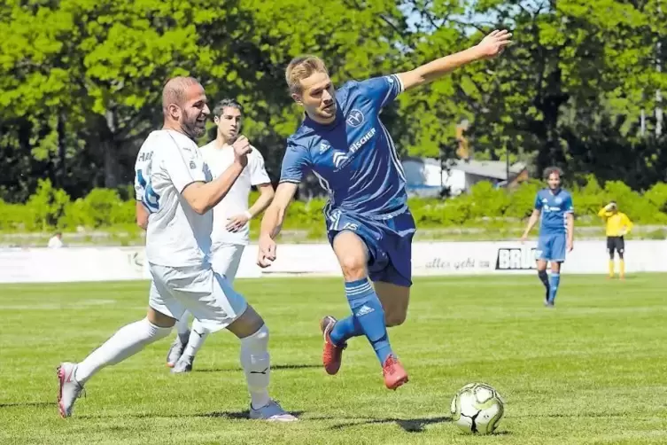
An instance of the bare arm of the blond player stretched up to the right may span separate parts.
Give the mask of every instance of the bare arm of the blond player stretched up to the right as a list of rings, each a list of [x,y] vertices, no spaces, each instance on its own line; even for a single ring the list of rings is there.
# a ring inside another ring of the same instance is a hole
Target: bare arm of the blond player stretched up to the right
[[[404,90],[410,90],[438,80],[447,73],[460,66],[476,60],[493,59],[510,44],[512,35],[507,30],[495,30],[486,35],[482,42],[467,50],[459,51],[449,56],[433,60],[426,65],[419,66],[412,71],[397,74]]]

